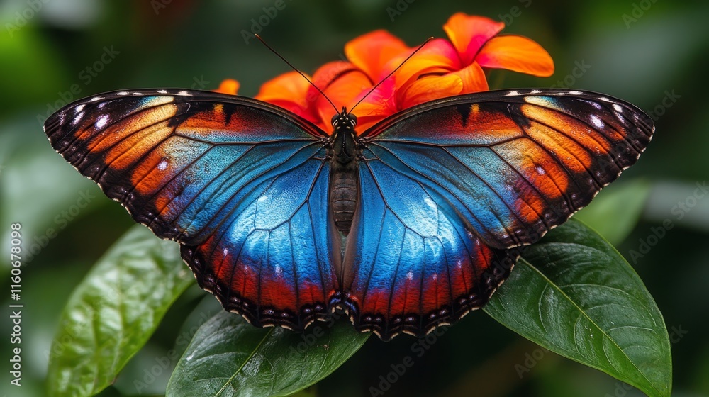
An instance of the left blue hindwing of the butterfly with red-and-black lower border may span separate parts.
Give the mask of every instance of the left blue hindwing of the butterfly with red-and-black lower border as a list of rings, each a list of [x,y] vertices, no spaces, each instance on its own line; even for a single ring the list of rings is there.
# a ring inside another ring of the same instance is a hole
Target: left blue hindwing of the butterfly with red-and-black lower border
[[[323,165],[309,160],[257,186],[206,242],[182,246],[200,286],[255,325],[302,329],[339,302]]]

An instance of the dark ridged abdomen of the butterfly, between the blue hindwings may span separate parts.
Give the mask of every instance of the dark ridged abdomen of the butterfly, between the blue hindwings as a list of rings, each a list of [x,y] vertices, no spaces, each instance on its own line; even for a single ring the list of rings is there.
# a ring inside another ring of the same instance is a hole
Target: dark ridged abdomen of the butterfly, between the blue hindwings
[[[333,167],[330,174],[330,208],[337,230],[347,235],[350,233],[354,209],[357,207],[357,171],[342,167]]]

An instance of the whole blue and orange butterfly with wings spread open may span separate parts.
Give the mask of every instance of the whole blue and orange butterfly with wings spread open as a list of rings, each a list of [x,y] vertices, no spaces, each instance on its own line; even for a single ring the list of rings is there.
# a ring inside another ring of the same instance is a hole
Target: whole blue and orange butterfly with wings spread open
[[[334,113],[334,112],[333,112]],[[654,125],[586,91],[430,101],[324,131],[243,96],[144,89],[48,118],[52,146],[253,325],[343,309],[382,340],[489,301],[529,245],[634,164]]]

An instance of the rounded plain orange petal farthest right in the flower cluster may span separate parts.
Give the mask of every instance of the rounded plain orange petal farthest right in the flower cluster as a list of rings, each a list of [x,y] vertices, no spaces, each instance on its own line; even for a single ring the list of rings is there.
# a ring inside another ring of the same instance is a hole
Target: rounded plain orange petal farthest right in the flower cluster
[[[481,67],[509,69],[515,72],[549,77],[554,74],[554,60],[534,40],[518,35],[502,35],[487,42],[475,59]]]

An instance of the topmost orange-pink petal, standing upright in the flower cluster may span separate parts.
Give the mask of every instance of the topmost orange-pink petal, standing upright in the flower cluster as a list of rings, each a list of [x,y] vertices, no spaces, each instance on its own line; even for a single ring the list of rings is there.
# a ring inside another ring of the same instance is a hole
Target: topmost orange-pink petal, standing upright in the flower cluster
[[[484,16],[455,13],[443,25],[443,30],[455,46],[465,65],[475,60],[483,45],[501,32],[505,23],[496,22]]]

